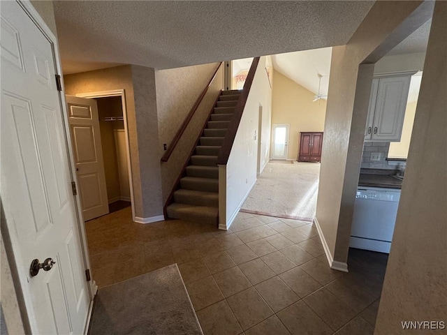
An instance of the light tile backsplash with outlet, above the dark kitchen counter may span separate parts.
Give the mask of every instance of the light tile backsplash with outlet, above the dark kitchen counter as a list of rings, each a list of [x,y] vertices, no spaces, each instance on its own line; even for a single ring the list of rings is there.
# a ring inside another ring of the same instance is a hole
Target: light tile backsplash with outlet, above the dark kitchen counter
[[[404,170],[406,162],[387,161],[390,142],[365,142],[363,144],[362,165],[363,169]],[[374,160],[379,156],[379,160]]]

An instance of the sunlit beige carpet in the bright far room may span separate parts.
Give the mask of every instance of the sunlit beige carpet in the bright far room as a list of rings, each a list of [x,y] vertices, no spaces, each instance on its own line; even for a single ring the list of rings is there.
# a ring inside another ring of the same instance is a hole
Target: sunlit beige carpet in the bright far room
[[[319,174],[319,163],[268,163],[241,211],[314,221]]]

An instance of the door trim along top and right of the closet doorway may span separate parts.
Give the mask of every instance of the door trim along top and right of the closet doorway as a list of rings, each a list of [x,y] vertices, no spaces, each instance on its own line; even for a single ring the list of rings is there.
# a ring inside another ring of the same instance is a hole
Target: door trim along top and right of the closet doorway
[[[111,89],[108,91],[96,91],[89,93],[76,94],[80,98],[107,98],[109,96],[121,96],[121,106],[123,110],[124,121],[124,138],[126,139],[126,157],[127,157],[127,170],[129,170],[129,188],[131,191],[131,206],[132,206],[132,219],[135,221],[135,197],[133,194],[133,178],[132,178],[132,162],[131,162],[131,147],[129,141],[129,127],[127,124],[127,107],[126,107],[126,92],[124,89]],[[136,221],[135,221],[136,222]]]

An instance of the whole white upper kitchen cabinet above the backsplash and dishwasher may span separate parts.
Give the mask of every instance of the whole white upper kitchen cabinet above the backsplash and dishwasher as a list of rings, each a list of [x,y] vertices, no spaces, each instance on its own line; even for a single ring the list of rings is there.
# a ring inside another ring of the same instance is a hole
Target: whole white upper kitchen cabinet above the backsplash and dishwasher
[[[411,75],[374,77],[369,97],[365,141],[399,142]]]

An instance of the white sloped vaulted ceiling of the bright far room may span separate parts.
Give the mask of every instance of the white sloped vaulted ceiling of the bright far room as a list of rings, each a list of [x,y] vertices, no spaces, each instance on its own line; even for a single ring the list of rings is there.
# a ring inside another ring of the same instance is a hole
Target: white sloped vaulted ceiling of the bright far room
[[[328,95],[332,47],[275,54],[273,68],[314,94],[318,93],[318,73],[321,77],[320,94]]]

